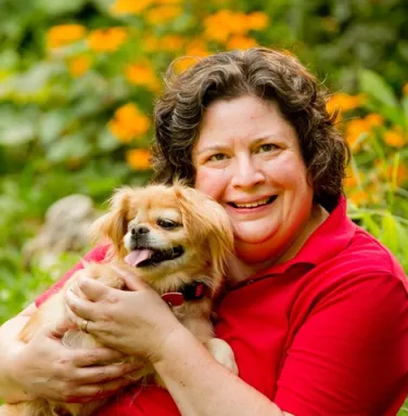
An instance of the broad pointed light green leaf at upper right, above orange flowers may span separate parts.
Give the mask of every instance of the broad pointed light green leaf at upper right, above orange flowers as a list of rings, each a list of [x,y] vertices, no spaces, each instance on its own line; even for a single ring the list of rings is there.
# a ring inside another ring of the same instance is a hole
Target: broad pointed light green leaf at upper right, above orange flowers
[[[393,89],[379,74],[369,69],[361,69],[359,81],[362,92],[366,92],[385,106],[398,107],[398,100]]]

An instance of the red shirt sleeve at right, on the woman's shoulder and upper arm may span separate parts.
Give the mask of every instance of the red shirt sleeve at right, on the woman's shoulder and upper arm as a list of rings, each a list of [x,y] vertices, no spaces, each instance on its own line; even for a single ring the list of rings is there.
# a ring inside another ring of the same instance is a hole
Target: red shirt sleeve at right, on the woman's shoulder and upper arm
[[[296,416],[396,415],[408,392],[407,300],[385,274],[318,299],[286,351],[275,402]]]

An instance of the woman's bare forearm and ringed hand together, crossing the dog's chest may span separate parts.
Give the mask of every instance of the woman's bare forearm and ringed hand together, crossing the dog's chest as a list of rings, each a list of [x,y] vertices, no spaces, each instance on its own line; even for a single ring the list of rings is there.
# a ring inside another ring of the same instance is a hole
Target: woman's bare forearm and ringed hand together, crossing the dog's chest
[[[88,332],[103,343],[148,356],[186,416],[289,415],[216,362],[137,275],[123,276],[133,291],[80,278],[75,290],[88,299],[67,290],[72,321],[89,320]]]

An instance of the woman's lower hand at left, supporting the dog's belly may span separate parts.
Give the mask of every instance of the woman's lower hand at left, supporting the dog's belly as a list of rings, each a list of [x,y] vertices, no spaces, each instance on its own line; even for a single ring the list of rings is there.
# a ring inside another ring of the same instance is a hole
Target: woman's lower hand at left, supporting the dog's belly
[[[9,387],[27,399],[88,402],[111,395],[131,380],[124,376],[140,368],[120,361],[124,355],[109,348],[69,349],[61,343],[65,327],[47,325],[28,342],[10,344]],[[11,395],[12,396],[12,395]]]

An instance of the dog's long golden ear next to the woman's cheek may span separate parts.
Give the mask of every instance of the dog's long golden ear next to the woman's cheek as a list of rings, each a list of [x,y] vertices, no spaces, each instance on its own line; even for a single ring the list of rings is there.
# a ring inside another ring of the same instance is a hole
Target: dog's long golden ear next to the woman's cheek
[[[209,248],[215,272],[222,276],[227,257],[233,251],[233,234],[225,209],[201,192],[175,184],[183,226],[192,244],[204,244]]]

